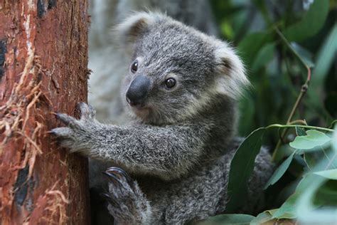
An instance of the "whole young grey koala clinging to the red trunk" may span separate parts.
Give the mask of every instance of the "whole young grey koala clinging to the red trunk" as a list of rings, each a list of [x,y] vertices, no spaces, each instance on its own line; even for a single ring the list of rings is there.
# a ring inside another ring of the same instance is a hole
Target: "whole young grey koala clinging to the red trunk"
[[[133,14],[115,29],[130,56],[121,97],[127,125],[58,113],[60,146],[114,167],[107,209],[116,224],[186,224],[225,212],[228,173],[242,140],[235,137],[237,98],[249,85],[235,50],[224,41],[154,12]],[[272,174],[267,150],[257,155],[240,211],[257,209]]]

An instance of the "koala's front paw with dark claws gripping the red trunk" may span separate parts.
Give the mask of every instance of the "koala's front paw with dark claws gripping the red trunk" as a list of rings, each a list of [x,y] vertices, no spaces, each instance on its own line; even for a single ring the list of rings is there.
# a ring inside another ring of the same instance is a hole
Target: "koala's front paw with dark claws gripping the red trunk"
[[[56,136],[61,147],[67,147],[70,152],[88,150],[90,146],[90,133],[95,132],[95,109],[85,103],[78,103],[80,120],[65,113],[56,116],[68,127],[58,127],[50,130]]]

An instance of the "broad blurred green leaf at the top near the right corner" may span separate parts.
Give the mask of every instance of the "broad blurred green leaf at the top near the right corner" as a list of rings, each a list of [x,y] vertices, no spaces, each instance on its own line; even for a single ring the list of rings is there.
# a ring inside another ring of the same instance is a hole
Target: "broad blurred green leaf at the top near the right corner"
[[[302,41],[314,36],[323,26],[328,16],[328,0],[316,0],[301,21],[294,23],[284,31],[288,41]]]

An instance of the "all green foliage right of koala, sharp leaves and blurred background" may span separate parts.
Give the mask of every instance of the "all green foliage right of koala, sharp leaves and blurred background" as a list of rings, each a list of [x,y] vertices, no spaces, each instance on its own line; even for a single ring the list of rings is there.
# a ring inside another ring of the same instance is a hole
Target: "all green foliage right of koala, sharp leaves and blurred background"
[[[237,46],[253,88],[240,100],[246,138],[228,182],[235,201],[204,224],[337,224],[337,1],[210,1],[220,36]],[[276,166],[264,187],[266,210],[228,214],[245,204],[262,145]]]

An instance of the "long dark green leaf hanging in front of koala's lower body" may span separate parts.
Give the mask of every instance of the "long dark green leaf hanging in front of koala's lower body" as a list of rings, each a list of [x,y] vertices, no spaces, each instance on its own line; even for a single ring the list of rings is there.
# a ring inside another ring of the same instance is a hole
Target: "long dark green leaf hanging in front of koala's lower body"
[[[247,180],[254,169],[255,157],[260,152],[265,130],[264,127],[254,130],[235,152],[230,163],[227,211],[235,211],[247,199]]]

